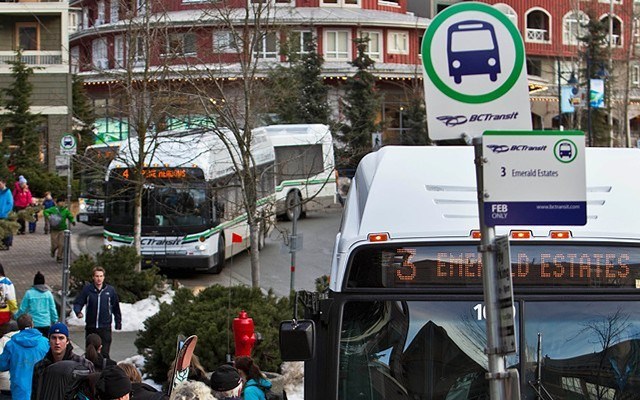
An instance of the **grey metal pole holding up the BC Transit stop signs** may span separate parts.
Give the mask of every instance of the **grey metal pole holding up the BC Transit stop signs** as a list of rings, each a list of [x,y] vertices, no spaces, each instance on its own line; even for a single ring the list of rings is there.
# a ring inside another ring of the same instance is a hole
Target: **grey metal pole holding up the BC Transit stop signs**
[[[476,161],[476,182],[478,185],[478,212],[480,215],[480,231],[482,234],[480,251],[482,252],[482,284],[484,287],[484,304],[487,314],[487,358],[489,362],[489,390],[491,400],[506,400],[506,382],[509,377],[505,368],[504,357],[500,354],[499,326],[498,326],[498,294],[497,294],[497,271],[495,243],[496,234],[493,227],[484,223],[484,180],[482,156],[482,137],[473,139]]]

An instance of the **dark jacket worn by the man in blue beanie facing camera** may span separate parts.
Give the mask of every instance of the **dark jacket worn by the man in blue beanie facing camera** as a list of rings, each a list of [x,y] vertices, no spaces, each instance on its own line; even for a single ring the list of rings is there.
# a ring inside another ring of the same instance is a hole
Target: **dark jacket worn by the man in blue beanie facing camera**
[[[63,363],[67,365],[62,365]],[[55,368],[60,365],[62,370]],[[31,399],[33,400],[64,400],[66,386],[73,381],[73,370],[82,368],[94,372],[93,363],[86,358],[73,353],[71,343],[67,344],[67,350],[62,361],[54,362],[51,350],[42,360],[33,367],[33,380],[31,382]]]

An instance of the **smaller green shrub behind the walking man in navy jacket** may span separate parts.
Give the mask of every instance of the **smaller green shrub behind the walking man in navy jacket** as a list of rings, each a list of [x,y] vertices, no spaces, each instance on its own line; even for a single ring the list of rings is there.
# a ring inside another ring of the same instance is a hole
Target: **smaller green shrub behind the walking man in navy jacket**
[[[131,246],[103,247],[95,259],[82,254],[71,264],[71,292],[77,294],[91,282],[93,268],[100,265],[106,271],[106,281],[117,289],[120,301],[134,303],[146,299],[164,282],[164,277],[156,267],[136,272],[139,263],[140,256]]]

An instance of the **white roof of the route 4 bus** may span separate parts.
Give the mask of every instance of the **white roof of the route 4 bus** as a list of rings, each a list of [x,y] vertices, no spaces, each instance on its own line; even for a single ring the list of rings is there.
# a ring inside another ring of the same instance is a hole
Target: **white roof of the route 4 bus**
[[[148,167],[198,167],[204,171],[207,180],[229,175],[235,168],[229,149],[220,135],[227,139],[226,142],[231,146],[234,158],[238,161],[239,150],[231,131],[193,129],[158,133],[154,140],[149,140],[147,144],[145,164]],[[137,158],[138,146],[135,137],[124,141],[118,157],[109,165],[109,171],[113,168],[132,166]],[[256,165],[275,159],[273,146],[263,133],[253,134],[251,153]]]

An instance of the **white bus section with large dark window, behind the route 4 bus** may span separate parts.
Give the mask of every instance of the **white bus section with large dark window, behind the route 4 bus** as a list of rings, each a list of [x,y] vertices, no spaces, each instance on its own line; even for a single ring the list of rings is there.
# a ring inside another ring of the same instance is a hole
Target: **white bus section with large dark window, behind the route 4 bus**
[[[276,213],[289,220],[297,202],[306,211],[336,202],[333,138],[321,124],[270,125],[256,128],[269,136],[276,154]]]

